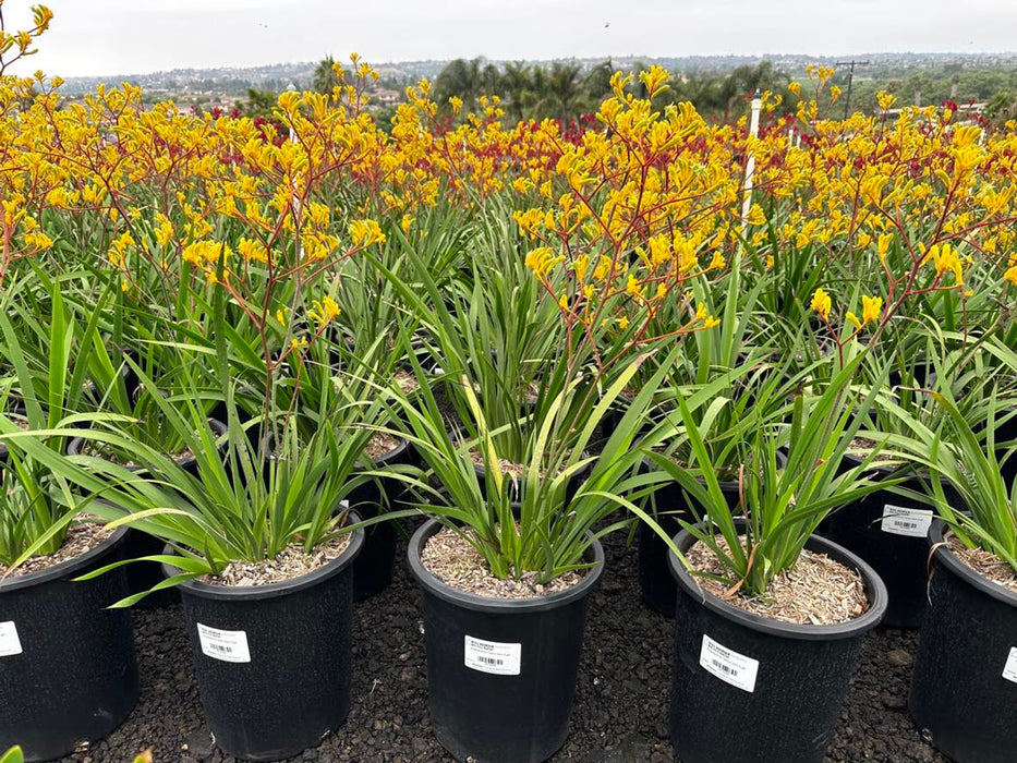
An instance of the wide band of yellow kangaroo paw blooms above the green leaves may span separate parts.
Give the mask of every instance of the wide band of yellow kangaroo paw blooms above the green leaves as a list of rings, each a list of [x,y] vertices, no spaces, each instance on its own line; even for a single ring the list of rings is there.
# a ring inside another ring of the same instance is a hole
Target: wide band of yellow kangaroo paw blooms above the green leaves
[[[130,85],[63,104],[59,81],[3,78],[0,282],[74,219],[101,231],[100,267],[124,279],[149,268],[170,290],[196,274],[261,323],[276,313],[256,308],[266,282],[308,283],[386,232],[422,239],[429,208],[469,213],[499,196],[530,242],[526,267],[569,319],[633,336],[712,326],[698,305],[736,268],[788,293],[799,284],[782,279],[853,274],[873,294],[843,313],[857,329],[884,323],[906,293],[967,300],[1017,286],[1017,133],[937,109],[892,116],[885,93],[873,116],[821,118],[815,95],[837,96],[828,69],[808,72],[812,98],[790,88],[797,123],[756,137],[743,119],[656,107],[669,78],[658,66],[616,73],[584,128],[507,122],[495,97],[475,113],[452,99],[449,123],[423,81],[386,130],[364,95],[377,73],[355,56],[336,71],[331,94],[283,93],[265,123],[147,106]],[[811,308],[831,320],[823,289]]]

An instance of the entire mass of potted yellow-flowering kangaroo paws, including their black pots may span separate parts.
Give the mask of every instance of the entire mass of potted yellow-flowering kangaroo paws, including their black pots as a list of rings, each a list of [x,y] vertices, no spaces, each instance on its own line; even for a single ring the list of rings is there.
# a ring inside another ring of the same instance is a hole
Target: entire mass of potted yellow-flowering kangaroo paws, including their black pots
[[[0,748],[119,724],[124,608],[173,592],[220,748],[314,746],[350,706],[352,602],[421,518],[457,758],[560,747],[600,538],[629,531],[675,614],[683,760],[821,759],[888,615],[924,618],[933,742],[1005,759],[1013,725],[976,740],[957,702],[1015,682],[1013,136],[824,120],[810,70],[794,147],[658,108],[658,68],[569,140],[489,102],[441,126],[426,83],[388,134],[355,63],[280,97],[284,136],[0,81]]]

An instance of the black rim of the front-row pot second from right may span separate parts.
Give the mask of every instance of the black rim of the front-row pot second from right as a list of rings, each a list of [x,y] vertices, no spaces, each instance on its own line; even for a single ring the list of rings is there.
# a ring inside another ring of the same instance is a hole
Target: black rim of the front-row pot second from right
[[[738,520],[737,524],[740,528],[743,524],[743,520]],[[702,528],[703,525],[700,526]],[[682,530],[671,540],[675,545],[685,553],[692,546],[697,538],[688,530]],[[692,574],[686,570],[674,552],[668,550],[667,560],[670,565],[671,576],[678,581],[679,588],[687,594],[699,600],[702,606],[721,615],[725,619],[734,620],[738,625],[760,633],[784,639],[797,639],[800,641],[834,641],[837,639],[855,638],[875,628],[880,623],[880,620],[883,619],[883,615],[886,614],[886,607],[889,603],[886,585],[883,583],[880,576],[876,574],[875,570],[863,559],[852,554],[844,546],[833,541],[827,541],[822,535],[813,533],[809,537],[806,548],[810,548],[810,546],[812,547],[811,549],[827,554],[842,565],[852,567],[861,576],[862,583],[865,588],[865,594],[869,596],[869,608],[864,613],[858,617],[851,618],[847,622],[837,622],[827,626],[806,626],[797,622],[775,620],[770,617],[746,611],[744,609],[739,609],[700,588],[699,583]]]

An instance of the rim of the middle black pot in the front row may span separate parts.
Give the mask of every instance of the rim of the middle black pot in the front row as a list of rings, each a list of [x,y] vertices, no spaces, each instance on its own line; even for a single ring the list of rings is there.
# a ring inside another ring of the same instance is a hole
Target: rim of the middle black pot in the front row
[[[585,571],[580,582],[565,591],[529,598],[495,598],[460,591],[439,579],[428,570],[421,560],[421,552],[424,549],[424,544],[444,526],[446,525],[438,520],[428,519],[416,529],[407,547],[410,571],[413,573],[413,577],[416,578],[416,582],[429,593],[435,594],[450,604],[463,607],[464,609],[519,614],[532,614],[556,609],[584,597],[597,584],[601,572],[604,571],[604,547],[598,540],[593,538],[593,544],[588,549],[586,555],[588,557],[592,557],[589,561],[592,561],[594,566]],[[588,532],[586,536],[592,537],[592,533]]]

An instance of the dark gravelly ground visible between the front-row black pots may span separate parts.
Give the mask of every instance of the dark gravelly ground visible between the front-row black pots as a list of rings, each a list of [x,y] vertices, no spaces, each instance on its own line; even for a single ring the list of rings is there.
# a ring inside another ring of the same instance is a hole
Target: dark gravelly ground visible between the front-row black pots
[[[616,536],[606,553],[603,583],[590,606],[571,734],[552,760],[673,761],[667,693],[674,626],[640,598],[635,548]],[[179,605],[133,617],[141,701],[106,740],[64,760],[121,763],[152,748],[159,763],[233,761],[215,748],[203,724]],[[421,627],[415,585],[399,564],[387,591],[355,606],[353,707],[346,726],[293,760],[451,760],[429,728]],[[865,638],[827,761],[945,760],[907,714],[916,644],[913,633],[897,630]]]

